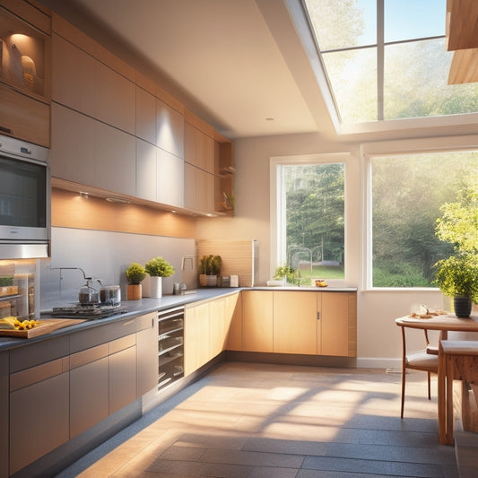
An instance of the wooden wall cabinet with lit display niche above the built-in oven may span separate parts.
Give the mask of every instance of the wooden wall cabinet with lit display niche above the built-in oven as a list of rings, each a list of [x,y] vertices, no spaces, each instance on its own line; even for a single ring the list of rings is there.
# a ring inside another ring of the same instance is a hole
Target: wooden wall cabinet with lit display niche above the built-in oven
[[[0,133],[49,146],[50,17],[22,1],[0,6]]]

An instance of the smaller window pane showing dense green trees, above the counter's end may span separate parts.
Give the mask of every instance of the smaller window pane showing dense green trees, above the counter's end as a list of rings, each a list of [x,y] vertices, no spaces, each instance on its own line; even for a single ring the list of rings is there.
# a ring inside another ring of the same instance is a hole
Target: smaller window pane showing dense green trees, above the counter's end
[[[344,277],[343,162],[275,165],[277,264],[304,283]]]

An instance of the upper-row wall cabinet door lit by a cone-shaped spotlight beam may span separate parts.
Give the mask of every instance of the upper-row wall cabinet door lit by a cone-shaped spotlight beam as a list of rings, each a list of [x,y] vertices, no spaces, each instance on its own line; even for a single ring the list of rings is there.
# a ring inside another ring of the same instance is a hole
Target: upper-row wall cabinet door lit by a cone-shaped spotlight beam
[[[161,100],[156,100],[156,145],[184,159],[184,115]]]

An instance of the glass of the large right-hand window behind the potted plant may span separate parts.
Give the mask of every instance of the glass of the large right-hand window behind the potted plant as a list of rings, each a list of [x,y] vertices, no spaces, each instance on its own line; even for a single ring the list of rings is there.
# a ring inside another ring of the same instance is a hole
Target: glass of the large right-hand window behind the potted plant
[[[435,235],[440,207],[456,202],[465,178],[478,173],[478,152],[374,156],[369,166],[369,285],[431,287],[432,265],[452,252]]]

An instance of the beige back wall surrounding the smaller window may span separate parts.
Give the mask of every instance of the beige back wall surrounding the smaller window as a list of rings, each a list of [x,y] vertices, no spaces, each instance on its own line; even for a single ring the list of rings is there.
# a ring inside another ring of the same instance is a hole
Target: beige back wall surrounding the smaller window
[[[257,239],[259,241],[259,284],[270,279],[269,158],[299,154],[351,152],[346,164],[347,285],[358,288],[358,364],[396,368],[401,364],[402,344],[395,318],[410,313],[413,304],[441,308],[439,291],[364,291],[362,277],[362,175],[360,145],[334,143],[316,135],[249,138],[234,143],[236,167],[236,212],[233,218],[201,219],[196,224],[198,239]],[[273,265],[274,268],[274,265]],[[422,335],[411,345],[421,347]]]

